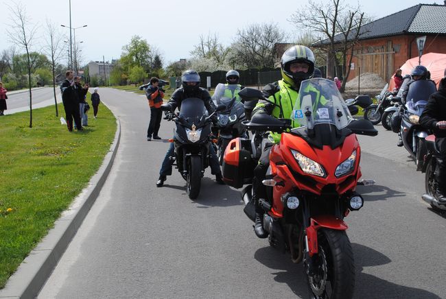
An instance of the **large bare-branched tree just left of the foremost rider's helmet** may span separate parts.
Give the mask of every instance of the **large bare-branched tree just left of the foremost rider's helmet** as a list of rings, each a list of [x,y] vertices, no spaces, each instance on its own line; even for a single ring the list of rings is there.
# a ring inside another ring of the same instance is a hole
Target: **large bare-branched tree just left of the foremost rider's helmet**
[[[275,23],[249,25],[237,31],[232,45],[233,63],[247,68],[274,67],[274,45],[281,43],[285,34]]]

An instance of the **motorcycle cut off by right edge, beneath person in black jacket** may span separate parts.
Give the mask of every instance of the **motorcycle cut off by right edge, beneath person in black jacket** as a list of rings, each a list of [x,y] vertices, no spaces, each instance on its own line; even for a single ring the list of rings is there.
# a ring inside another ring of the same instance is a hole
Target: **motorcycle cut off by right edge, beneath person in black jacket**
[[[441,154],[435,145],[435,135],[429,135],[425,139],[427,154],[424,159],[424,166],[421,171],[425,173],[425,189],[426,193],[421,196],[425,202],[430,204],[436,211],[446,211],[446,205],[440,204],[437,200],[438,186],[435,180],[434,171],[436,164],[441,162]]]

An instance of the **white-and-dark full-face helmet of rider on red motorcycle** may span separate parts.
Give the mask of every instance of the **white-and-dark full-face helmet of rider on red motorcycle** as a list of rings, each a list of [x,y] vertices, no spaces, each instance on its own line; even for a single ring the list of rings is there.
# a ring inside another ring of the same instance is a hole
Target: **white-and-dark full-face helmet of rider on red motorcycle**
[[[299,71],[292,73],[290,65],[294,62],[305,62],[309,65],[307,73]],[[294,88],[301,87],[301,82],[311,78],[314,74],[314,53],[305,46],[295,45],[290,47],[283,53],[281,58],[281,74],[287,84]]]

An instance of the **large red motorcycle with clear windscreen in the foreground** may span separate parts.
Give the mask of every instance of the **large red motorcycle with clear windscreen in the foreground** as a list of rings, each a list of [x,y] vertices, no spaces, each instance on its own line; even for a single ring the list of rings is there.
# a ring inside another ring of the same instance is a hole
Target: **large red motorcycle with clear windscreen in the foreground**
[[[265,99],[251,88],[239,95]],[[244,125],[256,133],[226,147],[225,182],[240,188],[252,181],[262,136],[280,132],[263,180],[268,196],[259,200],[270,246],[290,252],[293,263],[303,261],[312,298],[351,298],[355,267],[343,219],[364,204],[357,184],[373,183],[358,182],[361,149],[355,134],[375,136],[377,130],[370,121],[353,120],[334,82],[322,78],[302,82],[291,119],[257,114]],[[244,211],[254,221],[251,185],[242,196]]]

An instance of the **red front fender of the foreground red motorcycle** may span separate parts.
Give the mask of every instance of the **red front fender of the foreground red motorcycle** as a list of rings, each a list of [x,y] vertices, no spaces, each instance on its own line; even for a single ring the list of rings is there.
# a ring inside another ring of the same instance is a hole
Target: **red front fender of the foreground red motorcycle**
[[[318,253],[318,230],[319,228],[330,228],[332,230],[347,230],[349,228],[342,219],[336,218],[333,215],[318,215],[310,218],[309,227],[306,229],[307,233],[307,251],[309,256]]]

